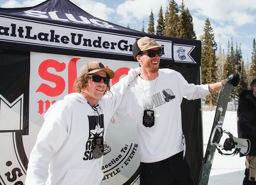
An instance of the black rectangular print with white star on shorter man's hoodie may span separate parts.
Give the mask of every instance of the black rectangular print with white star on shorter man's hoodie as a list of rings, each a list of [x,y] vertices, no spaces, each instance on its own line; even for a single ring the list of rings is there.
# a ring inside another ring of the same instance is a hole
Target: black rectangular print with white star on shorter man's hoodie
[[[84,160],[93,159],[93,145],[95,138],[103,138],[104,136],[104,115],[88,115],[89,121],[89,138],[86,142]],[[103,142],[103,140],[102,140]]]

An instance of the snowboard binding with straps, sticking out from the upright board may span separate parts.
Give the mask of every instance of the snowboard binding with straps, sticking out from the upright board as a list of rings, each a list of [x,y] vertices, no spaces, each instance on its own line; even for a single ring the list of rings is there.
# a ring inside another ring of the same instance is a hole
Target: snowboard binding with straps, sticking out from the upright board
[[[223,145],[220,144],[221,137],[223,133],[228,135]],[[221,155],[225,156],[234,156],[241,152],[242,154],[246,155],[250,151],[250,140],[244,138],[237,138],[232,135],[232,133],[223,130],[220,126],[215,126],[212,137],[211,137],[211,145],[214,145],[218,152]],[[224,153],[224,151],[234,151],[232,153]]]

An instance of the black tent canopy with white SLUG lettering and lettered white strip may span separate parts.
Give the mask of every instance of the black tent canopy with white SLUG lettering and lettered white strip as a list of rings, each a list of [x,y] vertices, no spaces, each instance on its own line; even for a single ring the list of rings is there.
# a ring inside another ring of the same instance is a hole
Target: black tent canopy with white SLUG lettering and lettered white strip
[[[0,8],[0,16],[1,43],[17,50],[92,57],[100,52],[102,57],[122,59],[125,55],[132,61],[134,38],[145,36],[95,18],[68,0],[45,1],[31,8]],[[151,36],[164,45],[162,61],[200,65],[200,41]],[[177,48],[174,53],[172,47]],[[178,57],[182,47],[188,48],[186,59]]]

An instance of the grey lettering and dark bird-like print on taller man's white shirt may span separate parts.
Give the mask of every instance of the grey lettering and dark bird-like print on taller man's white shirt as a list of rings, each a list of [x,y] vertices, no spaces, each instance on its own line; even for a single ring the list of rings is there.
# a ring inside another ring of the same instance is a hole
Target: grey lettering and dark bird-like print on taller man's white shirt
[[[173,91],[171,89],[163,89],[161,93],[156,93],[151,96],[151,103],[149,104],[146,100],[142,100],[143,107],[145,110],[159,107],[166,102],[169,102],[175,98]]]

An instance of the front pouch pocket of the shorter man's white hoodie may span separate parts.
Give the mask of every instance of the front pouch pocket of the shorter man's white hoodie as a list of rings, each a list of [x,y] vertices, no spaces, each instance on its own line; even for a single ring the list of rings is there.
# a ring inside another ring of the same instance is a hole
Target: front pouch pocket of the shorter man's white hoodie
[[[97,165],[96,168],[68,170],[60,185],[85,185],[100,184],[103,172]]]

